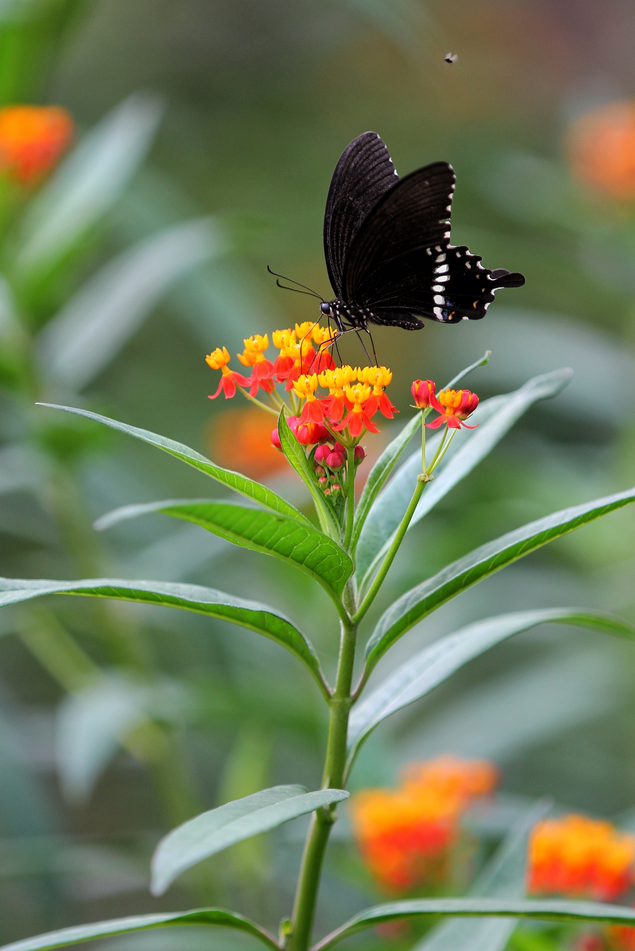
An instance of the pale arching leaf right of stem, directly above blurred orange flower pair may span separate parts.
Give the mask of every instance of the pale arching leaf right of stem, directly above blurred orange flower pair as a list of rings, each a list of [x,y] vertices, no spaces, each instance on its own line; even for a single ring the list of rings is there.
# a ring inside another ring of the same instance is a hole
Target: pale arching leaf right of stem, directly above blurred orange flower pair
[[[426,696],[474,657],[514,634],[529,631],[539,624],[572,624],[635,640],[635,629],[620,618],[580,608],[516,611],[478,621],[420,650],[357,704],[351,713],[348,728],[348,745],[352,755],[386,717]]]

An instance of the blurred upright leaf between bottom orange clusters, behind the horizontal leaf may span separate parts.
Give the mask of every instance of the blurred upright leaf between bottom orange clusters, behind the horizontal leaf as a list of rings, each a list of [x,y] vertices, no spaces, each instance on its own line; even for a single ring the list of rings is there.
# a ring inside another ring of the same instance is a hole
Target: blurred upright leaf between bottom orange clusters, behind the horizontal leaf
[[[529,832],[547,815],[550,806],[548,800],[534,803],[513,825],[471,886],[472,898],[524,897]],[[515,927],[516,922],[509,918],[484,918],[480,922],[454,919],[439,924],[415,945],[414,951],[505,951]]]

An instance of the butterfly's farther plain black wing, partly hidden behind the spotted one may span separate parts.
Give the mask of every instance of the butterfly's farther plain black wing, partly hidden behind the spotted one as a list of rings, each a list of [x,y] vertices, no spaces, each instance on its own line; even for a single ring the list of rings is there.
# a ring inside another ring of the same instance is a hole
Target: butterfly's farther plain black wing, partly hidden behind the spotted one
[[[364,132],[339,157],[324,211],[324,257],[337,297],[344,262],[359,225],[398,181],[393,160],[376,132]]]

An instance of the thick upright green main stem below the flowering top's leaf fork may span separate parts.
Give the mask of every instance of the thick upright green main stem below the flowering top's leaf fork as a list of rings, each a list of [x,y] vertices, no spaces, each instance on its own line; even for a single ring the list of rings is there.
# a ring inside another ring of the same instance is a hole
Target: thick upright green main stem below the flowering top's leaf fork
[[[346,732],[351,709],[351,683],[357,640],[357,626],[349,622],[341,626],[337,681],[329,704],[329,733],[322,788],[340,789],[346,766]],[[317,891],[331,827],[337,819],[335,807],[317,809],[304,844],[300,865],[292,931],[287,942],[289,951],[307,951],[316,917]]]

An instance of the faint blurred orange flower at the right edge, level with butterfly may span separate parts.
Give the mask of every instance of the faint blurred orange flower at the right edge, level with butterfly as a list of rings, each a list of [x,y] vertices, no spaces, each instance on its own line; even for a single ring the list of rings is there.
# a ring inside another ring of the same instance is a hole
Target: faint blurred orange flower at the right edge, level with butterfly
[[[635,102],[587,112],[568,130],[573,173],[612,198],[635,199]]]

